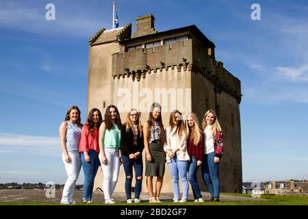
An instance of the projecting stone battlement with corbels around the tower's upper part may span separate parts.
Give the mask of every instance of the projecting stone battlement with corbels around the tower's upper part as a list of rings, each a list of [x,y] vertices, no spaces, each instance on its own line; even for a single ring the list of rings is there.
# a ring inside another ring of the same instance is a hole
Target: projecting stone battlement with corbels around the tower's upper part
[[[227,92],[240,103],[240,80],[229,73],[222,62],[217,62],[212,55],[198,49],[198,44],[192,38],[112,55],[113,79],[131,77],[133,81],[140,81],[141,78],[145,79],[147,74],[175,68],[178,73],[190,70],[203,75],[216,86],[218,92]]]

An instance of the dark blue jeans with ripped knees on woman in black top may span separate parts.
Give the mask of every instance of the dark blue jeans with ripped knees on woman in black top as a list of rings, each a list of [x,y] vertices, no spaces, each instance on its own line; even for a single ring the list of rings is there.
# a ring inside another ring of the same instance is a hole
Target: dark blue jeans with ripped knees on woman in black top
[[[133,168],[135,168],[136,174],[136,185],[135,185],[135,198],[140,197],[142,179],[137,179],[137,177],[142,177],[143,164],[142,164],[142,155],[138,159],[129,159],[129,157],[122,155],[123,168],[125,171],[125,193],[126,198],[131,199],[131,181],[133,180]],[[131,176],[131,178],[127,178]]]

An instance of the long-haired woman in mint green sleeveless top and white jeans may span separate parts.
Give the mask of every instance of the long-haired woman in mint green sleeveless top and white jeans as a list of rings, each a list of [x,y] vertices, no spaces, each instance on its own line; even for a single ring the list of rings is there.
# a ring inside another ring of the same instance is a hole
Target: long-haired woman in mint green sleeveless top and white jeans
[[[106,204],[114,204],[112,194],[120,170],[120,114],[114,105],[107,107],[105,120],[99,128],[99,159],[103,169],[103,192]]]

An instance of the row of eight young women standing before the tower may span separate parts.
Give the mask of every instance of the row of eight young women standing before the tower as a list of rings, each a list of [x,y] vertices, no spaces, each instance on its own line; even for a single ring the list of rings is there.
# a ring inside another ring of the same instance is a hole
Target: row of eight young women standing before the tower
[[[103,192],[106,204],[113,204],[112,194],[116,188],[120,165],[125,170],[125,192],[127,203],[140,203],[142,188],[142,151],[145,149],[146,186],[149,202],[159,203],[159,194],[167,163],[174,202],[188,201],[188,190],[192,186],[195,202],[203,202],[196,181],[196,172],[201,166],[202,177],[211,201],[219,201],[219,162],[222,156],[222,131],[214,110],[208,110],[199,126],[196,114],[190,113],[184,119],[181,112],[170,114],[169,126],[164,129],[162,107],[153,103],[149,119],[142,126],[138,111],[132,109],[121,123],[120,114],[114,105],[107,107],[104,119],[97,108],[90,110],[85,125],[81,124],[80,110],[72,106],[60,125],[62,159],[68,179],[62,193],[62,204],[74,204],[76,181],[84,170],[84,203],[92,203],[94,178],[101,165],[103,170]],[[131,198],[131,184],[135,169],[134,199]],[[157,177],[155,193],[153,177]],[[183,196],[179,198],[179,178]]]

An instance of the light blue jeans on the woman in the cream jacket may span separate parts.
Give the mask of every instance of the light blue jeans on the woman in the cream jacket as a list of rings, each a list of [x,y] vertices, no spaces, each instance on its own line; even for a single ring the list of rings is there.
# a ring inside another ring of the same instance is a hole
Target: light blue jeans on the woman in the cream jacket
[[[181,177],[183,196],[182,198],[188,198],[188,180],[187,180],[187,170],[188,161],[181,161],[177,159],[177,155],[172,157],[171,162],[168,163],[168,168],[170,175],[172,177],[172,187],[174,199],[179,199],[179,175]]]

